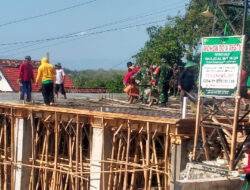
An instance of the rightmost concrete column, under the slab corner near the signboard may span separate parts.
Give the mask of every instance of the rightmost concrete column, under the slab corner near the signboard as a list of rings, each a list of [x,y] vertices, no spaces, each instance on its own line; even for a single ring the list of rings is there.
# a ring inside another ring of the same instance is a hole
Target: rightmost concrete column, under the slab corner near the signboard
[[[187,162],[188,152],[185,140],[182,140],[181,144],[173,144],[171,154],[170,190],[177,190],[177,180],[180,179],[180,173],[186,168]]]

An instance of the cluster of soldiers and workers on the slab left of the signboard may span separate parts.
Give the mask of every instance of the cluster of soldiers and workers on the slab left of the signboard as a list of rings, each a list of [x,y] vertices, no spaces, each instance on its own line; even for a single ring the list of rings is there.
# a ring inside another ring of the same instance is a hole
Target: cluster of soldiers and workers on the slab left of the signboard
[[[148,63],[144,63],[140,69],[134,68],[132,63],[129,62],[127,63],[129,73],[135,69],[138,70],[134,75],[131,75],[132,79],[129,80],[129,83],[138,81],[139,95],[143,104],[148,101],[145,89],[157,86],[160,106],[165,107],[169,93],[176,96],[180,90],[181,100],[187,93],[194,96],[195,74],[193,69],[196,65],[189,61],[185,65],[185,70],[180,72],[176,63],[171,67],[165,59],[161,59],[158,66],[150,66]]]

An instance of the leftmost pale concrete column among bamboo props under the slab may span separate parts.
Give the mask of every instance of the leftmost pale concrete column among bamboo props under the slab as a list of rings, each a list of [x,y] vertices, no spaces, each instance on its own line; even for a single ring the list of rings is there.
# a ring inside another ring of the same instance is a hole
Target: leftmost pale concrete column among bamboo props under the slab
[[[16,119],[15,125],[15,162],[28,161],[32,156],[30,122],[26,119]],[[14,168],[15,190],[25,190],[29,186],[30,170],[17,165]]]

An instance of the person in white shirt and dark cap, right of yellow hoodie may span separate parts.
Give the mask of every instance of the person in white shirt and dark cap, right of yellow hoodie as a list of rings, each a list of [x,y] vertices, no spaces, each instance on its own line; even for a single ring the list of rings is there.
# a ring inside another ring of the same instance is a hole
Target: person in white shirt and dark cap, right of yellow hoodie
[[[65,73],[62,68],[61,63],[56,63],[56,84],[55,84],[55,94],[56,98],[58,98],[58,92],[60,90],[61,94],[64,96],[64,99],[66,99],[66,92],[64,90],[64,81],[65,81]]]

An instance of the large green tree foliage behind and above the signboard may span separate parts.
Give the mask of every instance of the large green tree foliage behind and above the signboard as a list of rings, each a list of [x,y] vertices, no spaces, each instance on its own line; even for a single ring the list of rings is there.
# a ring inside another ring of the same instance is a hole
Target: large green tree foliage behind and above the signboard
[[[216,15],[216,19],[201,15],[208,7]],[[232,7],[223,7],[223,9],[237,33],[241,34],[243,10]],[[217,7],[216,1],[190,0],[183,16],[168,17],[164,27],[149,27],[147,29],[149,40],[133,57],[138,65],[142,65],[143,62],[157,65],[161,58],[165,58],[170,65],[177,63],[179,66],[183,66],[183,60],[199,63],[201,38],[223,36],[225,23],[226,19]],[[227,31],[229,31],[229,35],[234,35],[229,26]],[[244,67],[250,71],[250,15],[246,22],[246,36]]]

